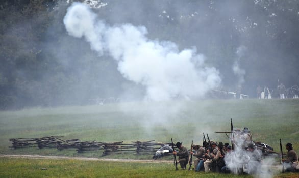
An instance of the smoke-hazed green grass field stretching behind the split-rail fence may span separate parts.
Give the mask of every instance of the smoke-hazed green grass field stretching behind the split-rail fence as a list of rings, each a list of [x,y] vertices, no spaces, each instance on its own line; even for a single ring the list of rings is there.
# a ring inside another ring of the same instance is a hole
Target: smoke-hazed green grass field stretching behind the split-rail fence
[[[102,152],[99,151],[77,153],[76,150],[71,149],[58,151],[37,147],[9,149],[12,145],[9,138],[44,136],[64,136],[64,140],[78,138],[82,141],[123,141],[124,143],[137,140],[156,140],[165,143],[173,138],[174,142],[180,141],[189,147],[192,140],[194,143],[201,144],[204,132],[209,134],[211,140],[224,143],[229,142],[225,134],[214,133],[214,131],[230,131],[231,118],[234,128],[250,128],[254,141],[265,142],[278,152],[279,139],[282,139],[283,144],[291,142],[294,150],[299,151],[299,100],[248,99],[130,102],[1,111],[0,154],[102,156]],[[105,158],[151,159],[152,155],[117,154]],[[14,159],[0,158],[0,160],[2,169],[3,164],[7,165],[8,170],[15,169],[14,166],[10,166],[13,165],[11,162],[15,161]],[[17,159],[18,161],[26,162]],[[64,164],[64,161],[61,162]],[[145,167],[147,169],[147,166]],[[151,167],[149,169],[144,171],[152,172]],[[171,169],[172,166],[169,171]],[[159,172],[159,168],[157,170]]]

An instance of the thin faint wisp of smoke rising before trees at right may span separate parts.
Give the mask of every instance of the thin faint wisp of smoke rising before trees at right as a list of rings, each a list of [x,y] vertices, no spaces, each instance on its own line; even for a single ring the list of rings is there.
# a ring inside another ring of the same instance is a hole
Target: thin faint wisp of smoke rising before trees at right
[[[238,77],[238,85],[241,86],[244,83],[244,75],[246,74],[246,71],[244,69],[241,69],[240,67],[240,59],[246,52],[247,48],[245,46],[240,46],[237,49],[237,59],[235,60],[233,64],[233,72]]]

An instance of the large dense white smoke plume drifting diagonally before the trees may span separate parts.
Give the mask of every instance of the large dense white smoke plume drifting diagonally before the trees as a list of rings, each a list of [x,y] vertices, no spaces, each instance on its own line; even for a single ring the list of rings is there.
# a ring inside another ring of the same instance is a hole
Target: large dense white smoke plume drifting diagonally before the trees
[[[117,60],[123,77],[145,86],[146,97],[154,101],[172,95],[203,97],[221,82],[218,71],[207,67],[195,48],[180,51],[175,43],[150,40],[144,26],[110,26],[81,3],[68,8],[64,24],[69,35],[84,38],[100,56]]]

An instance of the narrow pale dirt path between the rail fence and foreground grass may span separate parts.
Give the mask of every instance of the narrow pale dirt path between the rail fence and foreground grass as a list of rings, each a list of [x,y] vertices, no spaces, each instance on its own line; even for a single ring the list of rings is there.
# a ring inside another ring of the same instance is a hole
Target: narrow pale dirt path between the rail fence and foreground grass
[[[110,159],[110,158],[87,158],[87,157],[67,157],[67,156],[44,156],[44,155],[0,155],[6,158],[28,158],[28,159],[55,159],[55,160],[82,160],[82,161],[114,161],[114,162],[137,162],[137,163],[172,163],[167,160],[133,160],[133,159]]]

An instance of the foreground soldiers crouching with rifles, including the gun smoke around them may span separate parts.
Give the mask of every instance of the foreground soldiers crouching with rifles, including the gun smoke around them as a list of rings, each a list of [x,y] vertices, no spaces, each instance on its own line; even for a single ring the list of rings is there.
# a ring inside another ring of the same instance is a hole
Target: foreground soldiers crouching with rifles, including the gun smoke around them
[[[189,164],[189,170],[192,165],[192,158],[195,172],[218,172],[218,173],[247,173],[255,174],[260,171],[262,161],[262,150],[251,140],[251,134],[248,128],[234,131],[234,138],[231,138],[231,144],[213,141],[203,141],[202,145],[193,144],[190,151],[177,142],[179,151],[173,150],[171,154],[178,156],[177,163],[185,170]],[[286,144],[288,150],[287,158],[283,159],[285,172],[295,172],[298,168],[298,156],[292,148],[291,143]],[[242,158],[246,155],[246,158]],[[240,163],[240,160],[245,160]],[[237,165],[239,164],[239,165]],[[241,165],[240,165],[241,164]]]

